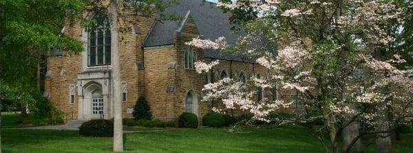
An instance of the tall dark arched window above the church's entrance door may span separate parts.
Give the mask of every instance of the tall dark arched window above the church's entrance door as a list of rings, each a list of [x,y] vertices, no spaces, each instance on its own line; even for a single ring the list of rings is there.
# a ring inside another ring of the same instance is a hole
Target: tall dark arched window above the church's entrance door
[[[110,65],[112,55],[110,50],[110,27],[107,17],[96,15],[96,28],[89,30],[87,65]]]

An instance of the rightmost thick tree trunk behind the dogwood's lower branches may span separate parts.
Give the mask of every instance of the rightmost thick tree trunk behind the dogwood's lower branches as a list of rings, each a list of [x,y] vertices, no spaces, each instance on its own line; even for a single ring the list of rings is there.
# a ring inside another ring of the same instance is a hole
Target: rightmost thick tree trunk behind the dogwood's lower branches
[[[377,131],[389,131],[389,115],[388,115],[388,106],[385,102],[379,104],[379,108],[383,108],[383,110],[379,110],[380,115],[377,117]],[[377,134],[376,138],[376,148],[375,151],[377,153],[389,153],[392,152],[392,139],[391,139],[392,132],[388,133],[379,133]]]

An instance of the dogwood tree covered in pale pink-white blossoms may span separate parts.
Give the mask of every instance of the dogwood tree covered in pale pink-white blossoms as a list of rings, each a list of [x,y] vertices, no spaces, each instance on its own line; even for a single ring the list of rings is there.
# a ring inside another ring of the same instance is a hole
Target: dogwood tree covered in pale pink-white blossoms
[[[365,134],[377,134],[377,152],[391,152],[396,121],[412,114],[412,70],[399,70],[396,65],[405,60],[397,54],[386,58],[379,50],[394,41],[390,23],[402,22],[406,10],[384,0],[224,0],[218,6],[238,14],[236,22],[246,35],[231,45],[223,37],[193,39],[187,45],[250,57],[267,68],[268,75],[251,76],[246,83],[226,78],[205,85],[204,101],[220,99],[224,104],[213,110],[239,108],[254,119],[270,121],[268,114],[296,101],[257,101],[249,89],[279,85],[303,95],[304,108],[292,122],[313,129],[326,152],[362,152],[360,138]],[[240,16],[242,12],[246,15]],[[195,68],[208,72],[218,64],[198,61]],[[315,119],[324,121],[321,129],[313,125]],[[330,147],[323,130],[328,131]]]

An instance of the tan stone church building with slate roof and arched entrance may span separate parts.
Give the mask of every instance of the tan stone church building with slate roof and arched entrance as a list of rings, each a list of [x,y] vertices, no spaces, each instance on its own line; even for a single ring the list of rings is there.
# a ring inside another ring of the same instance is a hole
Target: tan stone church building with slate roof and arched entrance
[[[182,112],[193,112],[199,119],[218,101],[203,102],[205,84],[231,77],[245,81],[248,76],[266,74],[254,62],[245,62],[228,54],[191,48],[184,43],[195,37],[215,40],[226,37],[234,43],[240,35],[230,30],[230,14],[213,3],[200,5],[202,0],[182,0],[165,12],[180,14],[182,21],[160,21],[123,12],[120,28],[131,28],[119,34],[119,54],[123,117],[131,117],[139,96],[145,96],[153,117],[173,120]],[[80,23],[67,24],[65,34],[84,42],[80,54],[52,50],[47,59],[45,96],[69,119],[111,119],[113,110],[112,54],[107,17],[87,14],[98,21],[96,30],[85,30]],[[129,25],[127,21],[138,22]],[[195,72],[198,60],[220,59],[209,74]],[[277,90],[260,91],[263,96],[277,99]]]

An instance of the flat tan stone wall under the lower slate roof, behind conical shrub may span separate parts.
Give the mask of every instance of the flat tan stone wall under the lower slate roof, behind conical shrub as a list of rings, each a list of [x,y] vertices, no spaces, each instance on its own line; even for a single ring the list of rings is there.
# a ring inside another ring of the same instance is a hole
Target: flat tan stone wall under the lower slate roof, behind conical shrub
[[[175,84],[175,70],[168,69],[168,64],[173,61],[176,61],[173,46],[145,50],[145,98],[151,105],[154,118],[175,117],[175,95],[167,92],[168,85]]]

